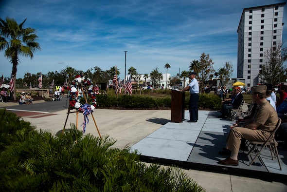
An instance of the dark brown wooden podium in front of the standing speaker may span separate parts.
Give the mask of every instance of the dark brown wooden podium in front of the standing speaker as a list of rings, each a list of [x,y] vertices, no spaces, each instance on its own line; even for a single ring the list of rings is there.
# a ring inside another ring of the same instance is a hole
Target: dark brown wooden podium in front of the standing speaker
[[[184,92],[171,90],[171,122],[181,123],[184,119]]]

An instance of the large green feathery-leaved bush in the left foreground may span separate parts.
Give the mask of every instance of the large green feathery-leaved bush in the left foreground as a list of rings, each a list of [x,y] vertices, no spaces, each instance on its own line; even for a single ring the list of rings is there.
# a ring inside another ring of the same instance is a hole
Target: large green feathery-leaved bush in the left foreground
[[[0,114],[0,135],[9,138],[1,140],[2,192],[204,191],[179,169],[147,166],[136,152],[111,147],[116,141],[108,136],[84,136],[74,125],[54,135],[5,110]]]

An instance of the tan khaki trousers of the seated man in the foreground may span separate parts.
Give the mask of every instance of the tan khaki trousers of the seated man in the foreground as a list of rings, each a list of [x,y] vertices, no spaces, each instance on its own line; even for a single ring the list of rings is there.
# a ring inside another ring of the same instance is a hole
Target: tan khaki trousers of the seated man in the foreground
[[[229,149],[234,154],[238,154],[241,139],[266,141],[270,136],[270,132],[260,129],[249,129],[245,127],[234,127],[230,130],[226,139],[226,149]]]

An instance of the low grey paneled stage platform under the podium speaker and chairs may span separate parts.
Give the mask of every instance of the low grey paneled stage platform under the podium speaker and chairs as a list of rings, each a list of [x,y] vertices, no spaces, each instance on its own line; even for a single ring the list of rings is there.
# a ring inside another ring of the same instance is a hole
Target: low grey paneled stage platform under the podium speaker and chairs
[[[188,119],[189,112],[185,111]],[[141,154],[141,160],[164,165],[177,165],[186,169],[197,169],[215,173],[259,178],[268,181],[283,181],[287,178],[287,151],[278,148],[282,170],[277,158],[272,160],[269,149],[264,150],[255,162],[262,166],[249,166],[254,153],[240,151],[238,166],[217,164],[226,155],[218,154],[225,147],[225,140],[234,122],[218,118],[219,112],[198,111],[197,123],[168,122],[153,133],[131,146]]]

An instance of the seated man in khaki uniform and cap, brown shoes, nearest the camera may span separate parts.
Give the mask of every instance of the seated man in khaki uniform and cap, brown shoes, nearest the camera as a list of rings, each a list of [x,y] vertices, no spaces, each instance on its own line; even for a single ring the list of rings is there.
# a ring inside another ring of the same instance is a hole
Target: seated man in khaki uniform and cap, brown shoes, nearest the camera
[[[251,88],[252,100],[258,104],[255,115],[242,124],[234,124],[230,127],[225,152],[229,154],[231,151],[231,155],[225,160],[218,161],[219,164],[237,166],[241,139],[266,141],[275,129],[278,116],[275,109],[265,98],[266,90],[266,85]],[[224,154],[224,151],[220,154]]]

